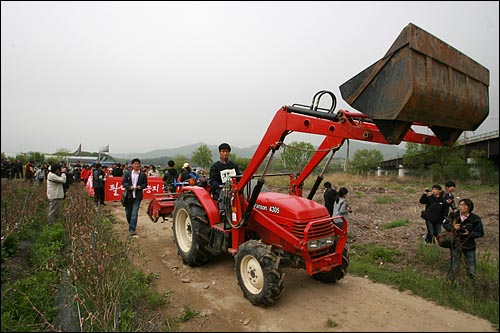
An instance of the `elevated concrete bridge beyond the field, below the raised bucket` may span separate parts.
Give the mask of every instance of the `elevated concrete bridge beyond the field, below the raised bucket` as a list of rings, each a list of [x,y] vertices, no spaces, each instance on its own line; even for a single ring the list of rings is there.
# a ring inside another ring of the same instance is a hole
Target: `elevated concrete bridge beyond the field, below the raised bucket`
[[[495,164],[498,170],[498,130],[470,137],[464,136],[458,140],[458,144],[464,148],[466,159],[469,158],[470,152],[473,150],[485,151],[488,159]],[[403,157],[396,157],[382,161],[379,165],[379,171],[401,169],[402,167]]]

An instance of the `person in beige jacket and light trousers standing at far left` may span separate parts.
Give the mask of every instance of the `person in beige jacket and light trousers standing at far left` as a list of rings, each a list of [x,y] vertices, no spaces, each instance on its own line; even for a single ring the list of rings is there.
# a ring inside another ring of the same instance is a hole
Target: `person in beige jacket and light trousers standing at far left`
[[[56,218],[61,212],[64,199],[63,185],[66,183],[66,168],[61,168],[59,163],[50,167],[47,175],[47,198],[49,199],[49,225],[56,223]]]

